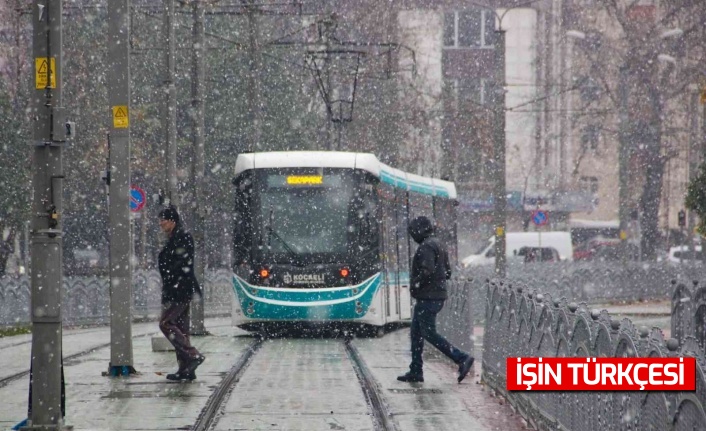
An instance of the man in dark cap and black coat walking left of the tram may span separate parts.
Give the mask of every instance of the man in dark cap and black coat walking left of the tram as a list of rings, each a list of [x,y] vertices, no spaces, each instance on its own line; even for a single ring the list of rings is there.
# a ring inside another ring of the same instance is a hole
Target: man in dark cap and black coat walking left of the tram
[[[174,346],[179,364],[167,379],[194,380],[196,368],[206,359],[189,341],[189,305],[194,293],[202,294],[194,274],[194,240],[182,228],[179,213],[172,206],[159,213],[159,227],[169,236],[159,253],[163,305],[159,329]]]

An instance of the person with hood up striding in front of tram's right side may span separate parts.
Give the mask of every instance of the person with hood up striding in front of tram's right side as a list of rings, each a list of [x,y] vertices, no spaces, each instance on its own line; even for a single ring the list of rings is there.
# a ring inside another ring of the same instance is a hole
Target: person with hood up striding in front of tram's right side
[[[458,364],[458,382],[466,377],[473,365],[473,357],[465,353],[436,332],[436,315],[446,300],[446,280],[451,278],[449,255],[444,246],[433,236],[434,228],[426,217],[412,220],[410,236],[419,247],[412,260],[410,293],[416,300],[412,314],[412,363],[409,372],[397,377],[402,382],[423,382],[422,372],[424,340],[439,349]]]

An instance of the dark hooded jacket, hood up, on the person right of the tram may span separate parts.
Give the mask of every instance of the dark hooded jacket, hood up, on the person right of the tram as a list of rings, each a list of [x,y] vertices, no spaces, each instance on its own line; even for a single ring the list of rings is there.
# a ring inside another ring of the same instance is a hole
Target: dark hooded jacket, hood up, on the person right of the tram
[[[446,280],[451,278],[449,255],[443,245],[432,236],[429,226],[410,223],[410,235],[419,243],[412,259],[410,293],[415,299],[441,299],[447,297]],[[424,221],[422,221],[424,222]],[[423,223],[422,223],[423,224]]]

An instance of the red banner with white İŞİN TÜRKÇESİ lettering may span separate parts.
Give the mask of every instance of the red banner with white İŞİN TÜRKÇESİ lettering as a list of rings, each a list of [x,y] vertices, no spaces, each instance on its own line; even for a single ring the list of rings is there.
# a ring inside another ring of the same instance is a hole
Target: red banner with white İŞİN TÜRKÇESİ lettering
[[[507,358],[508,391],[693,391],[695,358]]]

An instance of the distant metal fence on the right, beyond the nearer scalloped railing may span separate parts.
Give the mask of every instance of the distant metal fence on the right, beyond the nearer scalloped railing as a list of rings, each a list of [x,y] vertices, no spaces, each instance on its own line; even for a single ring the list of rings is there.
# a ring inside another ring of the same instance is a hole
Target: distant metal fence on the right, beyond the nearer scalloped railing
[[[485,283],[495,278],[494,267],[466,268],[462,275],[473,279],[473,314],[485,316]],[[669,262],[558,262],[509,264],[507,278],[540,289],[554,298],[575,301],[639,301],[669,299],[672,280],[691,283],[706,279],[706,268]]]

